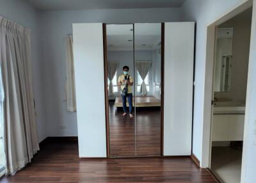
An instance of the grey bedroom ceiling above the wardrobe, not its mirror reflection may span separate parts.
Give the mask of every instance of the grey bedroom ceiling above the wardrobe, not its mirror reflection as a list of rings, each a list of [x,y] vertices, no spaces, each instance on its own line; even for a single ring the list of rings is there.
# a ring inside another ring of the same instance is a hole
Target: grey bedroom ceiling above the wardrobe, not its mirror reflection
[[[39,10],[179,8],[186,0],[26,0]]]

